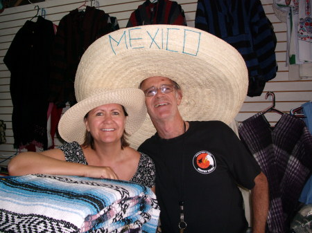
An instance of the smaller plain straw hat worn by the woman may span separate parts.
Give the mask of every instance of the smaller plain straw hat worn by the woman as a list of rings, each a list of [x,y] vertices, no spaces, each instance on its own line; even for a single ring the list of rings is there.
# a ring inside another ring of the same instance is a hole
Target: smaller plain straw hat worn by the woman
[[[125,132],[135,133],[146,118],[145,95],[138,88],[103,88],[85,91],[82,99],[68,109],[58,124],[60,136],[67,142],[76,141],[80,145],[85,140],[85,115],[103,104],[121,104],[128,116],[125,118]]]

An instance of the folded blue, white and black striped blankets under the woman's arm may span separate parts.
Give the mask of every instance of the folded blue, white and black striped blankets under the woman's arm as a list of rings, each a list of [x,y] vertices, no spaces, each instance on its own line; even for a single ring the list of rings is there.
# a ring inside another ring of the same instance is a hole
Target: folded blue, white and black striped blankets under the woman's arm
[[[153,232],[159,206],[143,185],[79,176],[1,176],[0,232]]]

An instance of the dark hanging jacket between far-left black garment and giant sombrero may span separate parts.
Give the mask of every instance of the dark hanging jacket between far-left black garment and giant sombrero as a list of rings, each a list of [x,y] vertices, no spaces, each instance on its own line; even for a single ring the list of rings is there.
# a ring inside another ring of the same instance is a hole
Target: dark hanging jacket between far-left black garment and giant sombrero
[[[90,44],[114,28],[119,27],[112,25],[108,14],[89,6],[85,11],[72,10],[60,20],[51,62],[50,102],[59,108],[67,102],[76,104],[73,83],[80,58]]]

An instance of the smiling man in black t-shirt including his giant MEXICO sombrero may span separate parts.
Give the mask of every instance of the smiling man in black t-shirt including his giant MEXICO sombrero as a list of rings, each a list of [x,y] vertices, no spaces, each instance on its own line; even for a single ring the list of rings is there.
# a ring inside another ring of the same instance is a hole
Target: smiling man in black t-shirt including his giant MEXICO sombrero
[[[253,233],[265,232],[266,176],[227,126],[248,90],[235,48],[196,28],[146,25],[101,37],[80,63],[78,98],[134,86],[146,95],[148,116],[128,141],[155,161],[163,233],[245,232],[238,185],[252,190]]]

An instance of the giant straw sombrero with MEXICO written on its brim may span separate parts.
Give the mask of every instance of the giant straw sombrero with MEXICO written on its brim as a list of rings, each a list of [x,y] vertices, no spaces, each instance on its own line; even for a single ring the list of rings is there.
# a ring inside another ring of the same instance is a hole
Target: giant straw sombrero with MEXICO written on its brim
[[[184,120],[229,124],[247,96],[248,70],[240,53],[208,32],[186,26],[146,25],[107,34],[85,51],[75,80],[77,100],[98,88],[137,88],[148,77],[180,85]],[[155,133],[147,115],[128,141],[137,147]]]

